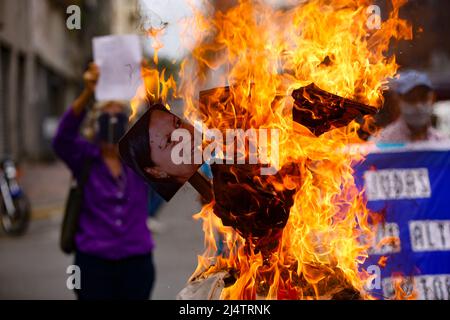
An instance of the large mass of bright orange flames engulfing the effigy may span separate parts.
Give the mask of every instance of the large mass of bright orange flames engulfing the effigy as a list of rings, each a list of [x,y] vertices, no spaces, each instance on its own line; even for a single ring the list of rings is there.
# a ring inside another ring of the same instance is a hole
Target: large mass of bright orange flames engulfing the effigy
[[[207,249],[194,277],[232,271],[236,282],[224,289],[223,299],[339,298],[349,288],[370,298],[364,291],[369,276],[361,269],[368,245],[361,239],[372,239],[373,230],[352,175],[363,156],[341,152],[359,142],[358,125],[316,137],[293,122],[290,95],[314,83],[379,108],[383,87],[398,68],[395,57],[387,57],[389,43],[411,38],[411,28],[398,18],[404,2],[393,1],[378,30],[367,27],[370,2],[364,0],[313,0],[284,9],[241,0],[226,11],[194,8],[188,25],[196,46],[181,72],[185,116],[219,130],[278,129],[280,168],[294,163],[300,170],[300,176],[286,173],[273,182],[295,195],[270,254],[225,227],[213,205],[196,215]],[[199,103],[198,92],[211,76],[230,86],[228,98],[218,89]],[[217,234],[225,246],[219,256]]]

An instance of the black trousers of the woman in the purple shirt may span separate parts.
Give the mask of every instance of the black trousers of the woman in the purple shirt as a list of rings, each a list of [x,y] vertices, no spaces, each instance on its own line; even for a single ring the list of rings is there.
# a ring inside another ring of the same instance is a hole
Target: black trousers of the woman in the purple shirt
[[[153,254],[118,261],[81,252],[75,255],[81,271],[78,300],[148,300],[155,279]]]

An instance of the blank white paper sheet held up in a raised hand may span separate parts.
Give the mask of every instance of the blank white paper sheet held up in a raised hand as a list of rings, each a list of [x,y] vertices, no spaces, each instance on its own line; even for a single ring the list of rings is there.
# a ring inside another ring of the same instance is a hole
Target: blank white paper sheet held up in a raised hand
[[[130,100],[142,84],[142,47],[137,35],[93,39],[94,61],[100,68],[97,101]]]

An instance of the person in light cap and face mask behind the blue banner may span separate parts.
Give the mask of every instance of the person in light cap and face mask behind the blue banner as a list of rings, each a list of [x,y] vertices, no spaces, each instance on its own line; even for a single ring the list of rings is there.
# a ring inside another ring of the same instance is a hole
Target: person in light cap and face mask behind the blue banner
[[[445,139],[432,127],[435,94],[426,74],[414,70],[402,72],[393,81],[391,90],[400,116],[375,136],[376,142],[404,143]]]

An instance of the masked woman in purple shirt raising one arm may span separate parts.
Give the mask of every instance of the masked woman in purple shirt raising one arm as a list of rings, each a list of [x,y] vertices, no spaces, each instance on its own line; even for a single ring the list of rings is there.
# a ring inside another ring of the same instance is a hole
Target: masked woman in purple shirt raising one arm
[[[79,133],[98,78],[98,67],[91,64],[84,91],[64,114],[53,141],[75,178],[91,163],[75,239],[75,265],[81,270],[76,294],[80,300],[145,300],[155,273],[154,242],[146,224],[149,187],[119,157],[126,107],[118,102],[103,107],[95,143]]]

